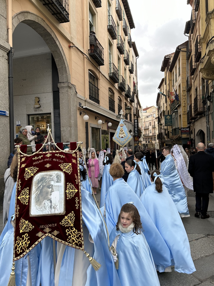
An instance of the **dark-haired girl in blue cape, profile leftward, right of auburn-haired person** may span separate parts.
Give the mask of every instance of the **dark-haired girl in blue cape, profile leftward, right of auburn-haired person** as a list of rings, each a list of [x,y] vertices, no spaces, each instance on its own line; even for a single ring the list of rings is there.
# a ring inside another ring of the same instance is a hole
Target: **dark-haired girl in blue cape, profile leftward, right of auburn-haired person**
[[[141,178],[140,167],[138,166],[135,160],[127,160],[125,162],[125,170],[128,175],[127,184],[132,188],[136,193],[138,198],[142,195],[144,191],[144,186]]]

